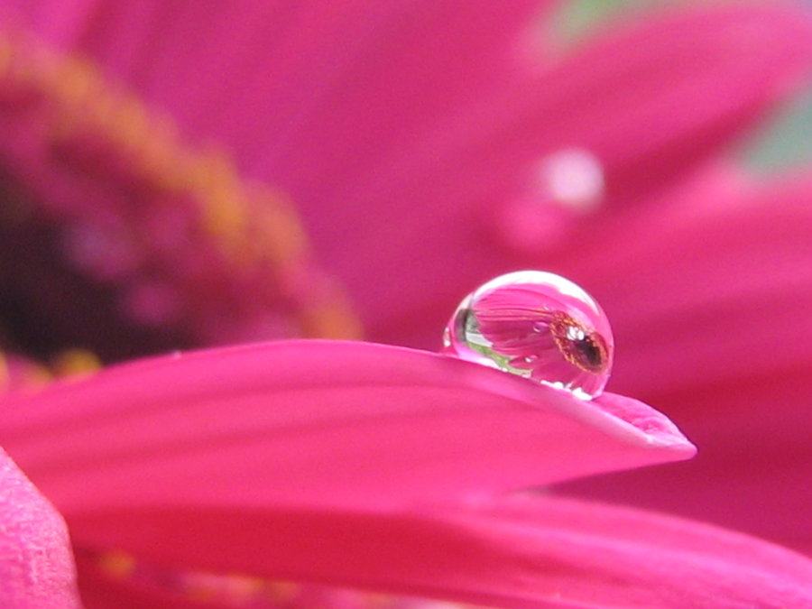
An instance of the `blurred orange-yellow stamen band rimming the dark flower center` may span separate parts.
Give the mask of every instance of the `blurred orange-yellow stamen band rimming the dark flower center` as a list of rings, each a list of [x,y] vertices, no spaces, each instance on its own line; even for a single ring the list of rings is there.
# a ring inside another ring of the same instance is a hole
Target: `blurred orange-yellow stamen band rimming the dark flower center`
[[[111,86],[89,60],[64,57],[28,36],[0,33],[0,78],[49,102],[45,118],[54,143],[89,135],[101,150],[125,157],[143,191],[197,205],[193,221],[242,276],[254,272],[272,281],[284,277],[286,269],[308,272],[311,249],[287,198],[241,180],[226,152],[200,152],[179,143],[171,119]],[[300,298],[296,309],[306,336],[360,336],[348,300],[332,287]]]

